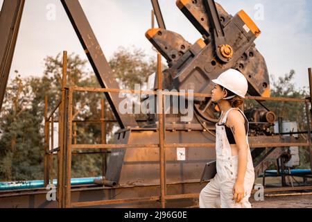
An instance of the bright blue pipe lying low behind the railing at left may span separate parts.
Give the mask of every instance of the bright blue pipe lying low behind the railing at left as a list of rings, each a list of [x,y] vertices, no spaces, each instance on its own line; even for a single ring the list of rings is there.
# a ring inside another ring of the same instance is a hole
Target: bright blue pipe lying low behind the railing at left
[[[94,180],[101,180],[102,177],[96,178],[71,178],[71,185],[87,185],[93,184]],[[53,185],[56,186],[58,180],[53,180]],[[44,187],[44,180],[28,180],[28,181],[12,181],[12,182],[0,182],[1,190],[10,189],[33,189]]]

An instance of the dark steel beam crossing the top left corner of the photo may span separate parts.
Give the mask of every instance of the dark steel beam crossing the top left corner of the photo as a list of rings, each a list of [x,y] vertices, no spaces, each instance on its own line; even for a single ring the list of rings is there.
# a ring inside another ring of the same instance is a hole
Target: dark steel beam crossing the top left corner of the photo
[[[0,12],[0,111],[12,64],[25,0],[4,0]]]

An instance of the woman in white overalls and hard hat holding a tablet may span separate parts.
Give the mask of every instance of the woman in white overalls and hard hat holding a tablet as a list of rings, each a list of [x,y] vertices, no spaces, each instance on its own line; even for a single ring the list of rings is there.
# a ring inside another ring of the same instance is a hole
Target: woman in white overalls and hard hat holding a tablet
[[[248,119],[239,109],[248,82],[235,69],[212,80],[211,99],[221,111],[216,123],[216,176],[200,192],[200,208],[251,207],[254,166],[248,144]]]

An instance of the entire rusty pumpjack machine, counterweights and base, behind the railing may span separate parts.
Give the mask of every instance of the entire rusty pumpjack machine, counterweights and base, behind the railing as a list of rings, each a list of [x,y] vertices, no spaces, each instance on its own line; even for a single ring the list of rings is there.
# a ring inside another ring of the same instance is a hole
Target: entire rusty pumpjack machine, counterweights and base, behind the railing
[[[153,1],[152,1],[153,2]],[[177,7],[202,35],[194,44],[184,40],[182,35],[168,31],[164,26],[159,6],[153,3],[159,27],[151,28],[146,37],[164,56],[168,69],[164,70],[162,88],[188,90],[210,94],[217,78],[223,71],[234,68],[248,79],[248,93],[253,96],[270,96],[270,82],[266,62],[257,51],[254,40],[261,31],[241,10],[229,15],[214,1],[178,0]],[[155,80],[155,86],[157,80]],[[156,87],[155,87],[156,89]],[[180,121],[182,114],[166,114],[166,143],[188,144],[214,143],[215,123],[218,120],[217,107],[210,99],[194,98],[194,116],[191,121]],[[172,105],[172,104],[171,104]],[[171,107],[172,108],[172,107]],[[249,112],[248,112],[249,113]],[[255,118],[255,119],[252,119]],[[122,130],[116,134],[116,143],[153,144],[157,139],[157,115],[150,115],[150,123],[145,128]],[[275,114],[268,110],[250,112],[250,121],[260,135],[266,135],[275,121]],[[260,123],[261,121],[261,123]],[[264,122],[264,123],[263,123]],[[259,126],[260,124],[260,126]],[[260,139],[260,138],[259,138]],[[263,139],[263,138],[261,138]],[[252,149],[254,151],[255,149]],[[264,149],[253,152],[254,156]],[[177,160],[177,147],[166,148],[167,182],[187,182],[200,178],[205,162],[215,159],[214,149],[185,148],[185,161]],[[112,151],[107,167],[107,180],[120,185],[157,184],[159,178],[157,148],[119,149]]]

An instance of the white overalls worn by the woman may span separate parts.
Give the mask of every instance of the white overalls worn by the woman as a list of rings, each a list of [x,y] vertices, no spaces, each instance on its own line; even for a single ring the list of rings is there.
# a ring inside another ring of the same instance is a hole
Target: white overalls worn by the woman
[[[231,108],[227,110],[221,126],[216,123],[216,176],[200,191],[199,205],[200,208],[251,208],[249,202],[250,193],[254,185],[254,166],[252,164],[252,156],[250,153],[250,146],[248,143],[248,130],[246,135],[246,142],[248,144],[248,161],[247,169],[244,178],[245,196],[240,203],[235,203],[233,198],[233,187],[236,182],[239,156],[232,156],[232,149],[229,145],[227,135],[225,132],[225,122],[227,115],[231,110],[239,110],[243,116],[245,114],[239,108]],[[222,113],[221,113],[222,116]],[[245,117],[245,120],[247,118]]]

